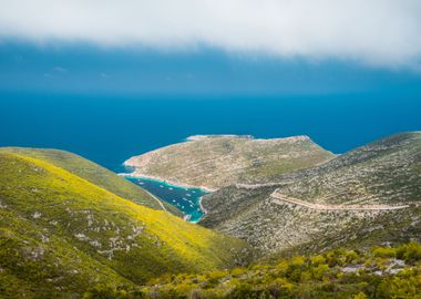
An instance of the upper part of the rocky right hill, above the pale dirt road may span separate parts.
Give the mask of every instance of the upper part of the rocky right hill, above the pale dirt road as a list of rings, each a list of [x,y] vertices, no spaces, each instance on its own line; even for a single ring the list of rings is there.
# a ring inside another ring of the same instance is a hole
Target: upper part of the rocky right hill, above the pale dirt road
[[[325,204],[419,202],[421,132],[403,133],[370,143],[302,172],[280,192]]]

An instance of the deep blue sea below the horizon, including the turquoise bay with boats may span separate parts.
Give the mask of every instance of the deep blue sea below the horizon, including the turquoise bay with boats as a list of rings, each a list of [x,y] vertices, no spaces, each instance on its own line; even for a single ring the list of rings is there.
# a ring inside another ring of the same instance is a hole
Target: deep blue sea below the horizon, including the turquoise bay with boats
[[[195,134],[240,134],[256,138],[308,135],[326,150],[340,154],[391,134],[420,130],[421,97],[417,94],[0,92],[0,146],[65,150],[116,173],[125,172],[122,164],[133,155],[183,142]],[[162,182],[144,181],[141,185],[175,206],[192,208],[192,221],[201,217],[193,215],[199,196],[192,200],[193,207],[186,196],[193,195],[193,190],[184,189],[182,194],[182,188]],[[195,192],[202,195],[201,190]]]

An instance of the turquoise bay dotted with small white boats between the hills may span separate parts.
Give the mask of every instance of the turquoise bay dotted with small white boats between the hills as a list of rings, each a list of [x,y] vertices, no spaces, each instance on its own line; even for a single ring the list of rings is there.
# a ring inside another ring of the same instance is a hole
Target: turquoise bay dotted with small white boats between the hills
[[[205,215],[201,209],[199,200],[207,193],[201,188],[186,188],[144,177],[126,176],[126,179],[182,210],[191,223],[197,223]]]

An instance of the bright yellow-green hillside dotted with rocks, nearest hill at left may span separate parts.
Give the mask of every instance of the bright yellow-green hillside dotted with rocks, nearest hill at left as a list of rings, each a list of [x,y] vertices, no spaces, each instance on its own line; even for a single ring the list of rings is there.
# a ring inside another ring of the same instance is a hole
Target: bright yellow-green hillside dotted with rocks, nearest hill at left
[[[247,246],[124,199],[45,161],[0,154],[0,297],[80,297],[226,268]]]

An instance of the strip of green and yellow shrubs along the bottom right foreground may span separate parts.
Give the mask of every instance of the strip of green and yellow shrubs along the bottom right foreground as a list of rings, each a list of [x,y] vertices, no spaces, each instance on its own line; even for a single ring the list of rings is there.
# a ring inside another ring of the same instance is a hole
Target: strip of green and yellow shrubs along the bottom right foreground
[[[96,286],[85,298],[421,298],[421,245],[336,249],[248,268],[165,275],[132,289]]]

